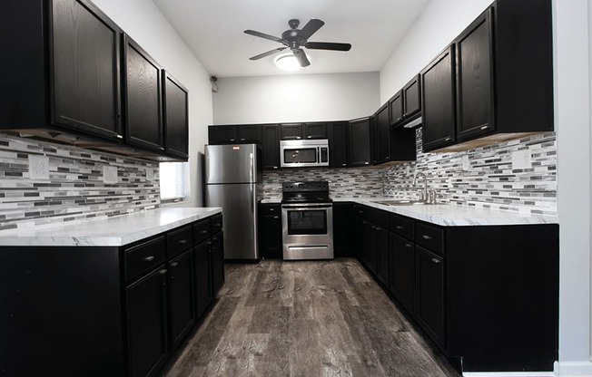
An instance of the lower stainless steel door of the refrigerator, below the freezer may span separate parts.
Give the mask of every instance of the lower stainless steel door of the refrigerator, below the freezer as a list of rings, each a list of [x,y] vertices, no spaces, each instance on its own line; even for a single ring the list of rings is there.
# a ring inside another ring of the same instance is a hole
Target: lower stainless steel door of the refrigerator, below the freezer
[[[257,185],[206,185],[207,207],[222,207],[224,259],[258,259]]]

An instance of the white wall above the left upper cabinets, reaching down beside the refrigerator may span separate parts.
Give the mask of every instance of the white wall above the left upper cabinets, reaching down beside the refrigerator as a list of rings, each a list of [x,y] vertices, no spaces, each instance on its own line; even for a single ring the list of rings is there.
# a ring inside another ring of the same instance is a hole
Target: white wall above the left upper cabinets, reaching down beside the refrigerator
[[[93,3],[189,90],[191,200],[183,206],[202,206],[198,152],[203,153],[207,125],[212,123],[210,75],[152,1],[94,0]]]

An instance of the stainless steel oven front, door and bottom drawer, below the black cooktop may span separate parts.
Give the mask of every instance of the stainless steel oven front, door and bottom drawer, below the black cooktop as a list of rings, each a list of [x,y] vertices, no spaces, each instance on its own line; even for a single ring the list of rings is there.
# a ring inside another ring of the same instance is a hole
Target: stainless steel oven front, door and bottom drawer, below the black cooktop
[[[282,204],[281,228],[284,259],[333,257],[332,204]]]

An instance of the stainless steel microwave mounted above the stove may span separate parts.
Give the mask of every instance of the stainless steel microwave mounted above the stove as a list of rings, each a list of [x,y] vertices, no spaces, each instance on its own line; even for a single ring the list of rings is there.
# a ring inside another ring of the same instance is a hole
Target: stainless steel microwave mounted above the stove
[[[329,166],[329,140],[280,140],[281,168]]]

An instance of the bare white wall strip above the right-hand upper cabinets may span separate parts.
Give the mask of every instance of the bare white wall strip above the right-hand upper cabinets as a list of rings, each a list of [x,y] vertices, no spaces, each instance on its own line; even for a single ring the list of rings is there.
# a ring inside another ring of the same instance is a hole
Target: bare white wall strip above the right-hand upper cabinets
[[[492,2],[431,0],[380,69],[380,103],[387,102]]]

